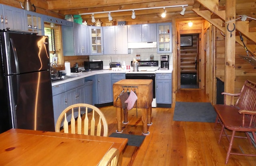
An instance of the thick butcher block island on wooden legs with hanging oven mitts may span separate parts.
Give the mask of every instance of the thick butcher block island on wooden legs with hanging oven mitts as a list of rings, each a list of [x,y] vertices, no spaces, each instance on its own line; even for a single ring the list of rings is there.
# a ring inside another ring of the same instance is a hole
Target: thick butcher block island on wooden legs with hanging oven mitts
[[[133,91],[137,96],[134,108],[142,108],[142,134],[148,135],[148,125],[151,125],[151,112],[153,101],[153,81],[140,79],[124,79],[113,84],[114,107],[116,107],[117,130],[122,132],[122,102],[120,94]],[[127,111],[124,109],[124,123],[126,123]],[[128,121],[127,121],[128,122]]]

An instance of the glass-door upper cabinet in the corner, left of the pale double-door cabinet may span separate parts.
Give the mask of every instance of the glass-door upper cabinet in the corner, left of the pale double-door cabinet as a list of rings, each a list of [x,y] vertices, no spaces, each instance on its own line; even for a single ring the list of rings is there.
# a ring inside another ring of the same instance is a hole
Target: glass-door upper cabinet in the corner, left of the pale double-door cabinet
[[[102,27],[90,26],[90,55],[103,55]]]

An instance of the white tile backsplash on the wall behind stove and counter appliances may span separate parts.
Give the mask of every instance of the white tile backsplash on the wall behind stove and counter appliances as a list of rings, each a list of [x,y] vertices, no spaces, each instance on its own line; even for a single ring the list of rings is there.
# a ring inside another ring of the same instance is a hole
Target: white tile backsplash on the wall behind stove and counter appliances
[[[169,55],[170,59],[170,68],[172,68],[172,53],[163,53],[163,54],[157,54],[156,48],[134,48],[130,49],[130,54],[118,54],[118,55],[97,55],[97,56],[89,56],[90,61],[92,60],[102,60],[103,61],[103,68],[108,69],[109,68],[109,62],[112,59],[112,62],[120,62],[123,65],[123,62],[125,61],[125,64],[128,65],[131,63],[133,58],[136,59],[136,55],[140,55],[140,60],[150,60],[150,55],[154,55],[154,60],[158,60],[159,66],[160,66],[160,55]]]

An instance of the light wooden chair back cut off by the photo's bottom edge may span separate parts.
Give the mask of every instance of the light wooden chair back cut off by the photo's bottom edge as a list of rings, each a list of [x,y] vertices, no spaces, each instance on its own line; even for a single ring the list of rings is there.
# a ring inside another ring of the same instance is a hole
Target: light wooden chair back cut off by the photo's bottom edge
[[[117,166],[119,160],[119,150],[111,148],[102,158],[98,166]]]

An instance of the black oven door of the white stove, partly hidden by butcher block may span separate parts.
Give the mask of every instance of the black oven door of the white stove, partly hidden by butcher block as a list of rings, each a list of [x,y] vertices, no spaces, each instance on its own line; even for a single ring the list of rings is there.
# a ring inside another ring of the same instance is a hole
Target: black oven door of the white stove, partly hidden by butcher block
[[[125,75],[126,79],[148,79],[153,80],[153,98],[156,98],[156,74],[131,73]]]

